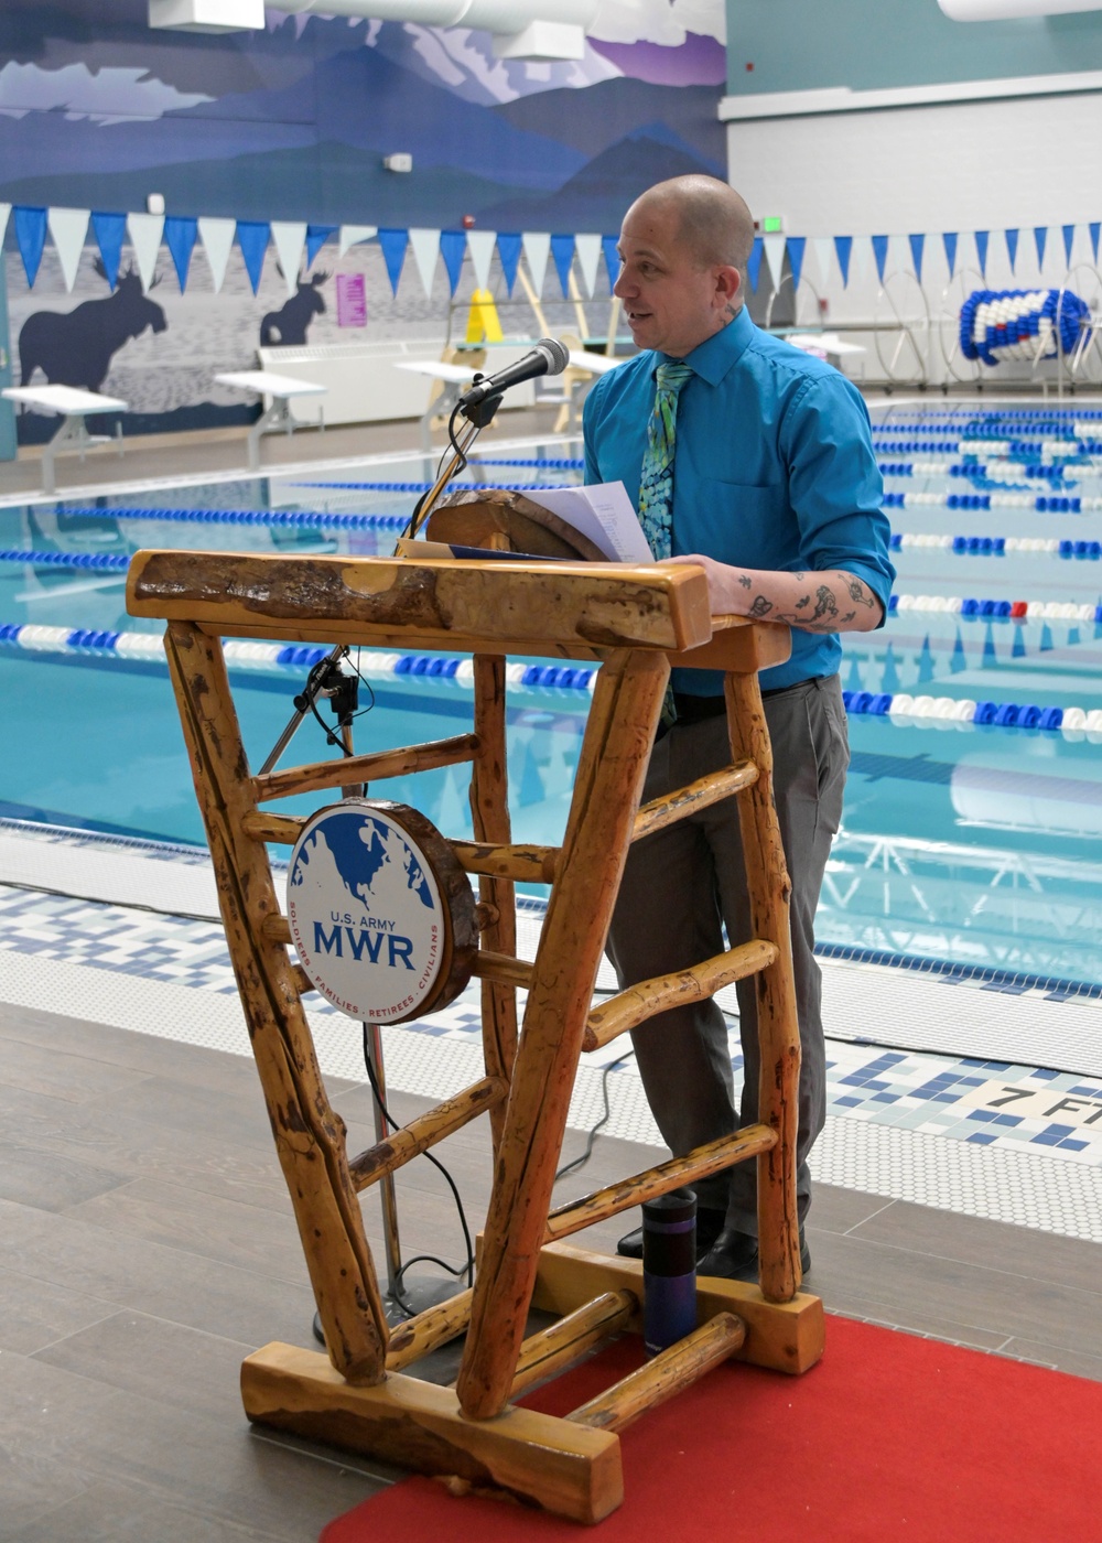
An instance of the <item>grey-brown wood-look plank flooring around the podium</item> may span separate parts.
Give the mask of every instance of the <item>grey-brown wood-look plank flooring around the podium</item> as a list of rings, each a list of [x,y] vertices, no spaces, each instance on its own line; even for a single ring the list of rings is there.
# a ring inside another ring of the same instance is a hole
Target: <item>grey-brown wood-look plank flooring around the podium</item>
[[[366,1089],[332,1092],[367,1145]],[[242,1356],[309,1344],[313,1316],[250,1062],[0,1006],[0,1540],[309,1543],[397,1477],[252,1432],[241,1412]],[[477,1227],[483,1126],[438,1151]],[[651,1159],[599,1140],[560,1199]],[[406,1171],[400,1208],[407,1256],[461,1259],[428,1163]],[[620,1230],[594,1228],[590,1247]],[[830,1188],[809,1242],[830,1312],[1102,1379],[1097,1245]]]

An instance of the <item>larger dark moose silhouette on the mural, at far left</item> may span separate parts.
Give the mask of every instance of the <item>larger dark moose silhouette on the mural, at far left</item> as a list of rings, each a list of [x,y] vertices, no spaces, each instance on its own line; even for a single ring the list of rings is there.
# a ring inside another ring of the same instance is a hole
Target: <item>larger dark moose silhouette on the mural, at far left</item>
[[[106,278],[103,262],[96,272]],[[150,289],[159,282],[153,279]],[[86,299],[71,312],[35,310],[19,335],[20,386],[29,386],[42,370],[51,386],[83,386],[99,390],[119,349],[147,327],[164,332],[168,322],[156,301],[142,290],[133,264],[106,299]]]

